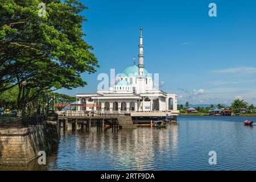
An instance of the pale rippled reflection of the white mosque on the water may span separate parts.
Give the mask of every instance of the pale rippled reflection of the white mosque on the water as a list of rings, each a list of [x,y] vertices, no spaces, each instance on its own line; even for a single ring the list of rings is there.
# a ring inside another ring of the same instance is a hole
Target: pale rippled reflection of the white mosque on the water
[[[177,155],[177,129],[178,125],[168,125],[167,129],[141,127],[98,133],[92,128],[86,138],[77,138],[76,146],[86,146],[87,152],[92,153],[100,148],[101,155],[112,161],[111,165],[122,169],[150,170],[154,169],[156,156]]]

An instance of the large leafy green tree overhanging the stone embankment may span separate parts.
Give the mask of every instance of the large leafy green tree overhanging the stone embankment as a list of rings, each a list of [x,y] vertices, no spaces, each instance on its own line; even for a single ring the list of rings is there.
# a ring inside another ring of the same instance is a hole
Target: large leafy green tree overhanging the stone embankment
[[[81,73],[96,72],[93,47],[82,39],[85,9],[77,0],[0,0],[0,94],[18,85],[18,109],[42,90],[84,86]]]

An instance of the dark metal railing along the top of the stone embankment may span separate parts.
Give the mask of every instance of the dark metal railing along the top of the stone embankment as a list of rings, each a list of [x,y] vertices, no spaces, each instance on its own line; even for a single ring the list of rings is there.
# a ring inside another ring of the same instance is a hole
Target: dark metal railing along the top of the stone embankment
[[[23,127],[44,125],[46,117],[26,116],[23,118],[0,118],[0,129],[22,129]]]

